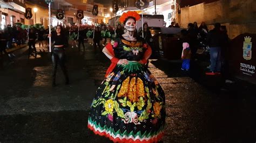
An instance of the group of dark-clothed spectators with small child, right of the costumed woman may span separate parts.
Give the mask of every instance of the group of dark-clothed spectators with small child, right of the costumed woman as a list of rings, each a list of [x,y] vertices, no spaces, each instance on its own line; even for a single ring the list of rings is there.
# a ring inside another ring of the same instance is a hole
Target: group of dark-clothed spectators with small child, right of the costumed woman
[[[208,30],[202,22],[198,27],[197,22],[189,23],[187,30],[181,30],[183,36],[182,70],[190,69],[190,60],[197,60],[198,48],[210,49],[210,66],[206,75],[218,75],[227,67],[228,35],[225,25],[215,23],[213,30]],[[225,72],[225,71],[224,71]]]

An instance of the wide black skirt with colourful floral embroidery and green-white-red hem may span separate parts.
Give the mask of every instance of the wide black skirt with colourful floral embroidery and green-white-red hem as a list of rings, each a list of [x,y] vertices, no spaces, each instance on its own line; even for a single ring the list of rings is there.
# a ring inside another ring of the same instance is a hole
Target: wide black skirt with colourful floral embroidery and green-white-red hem
[[[114,142],[157,142],[165,126],[165,95],[138,62],[118,65],[99,86],[88,127]]]

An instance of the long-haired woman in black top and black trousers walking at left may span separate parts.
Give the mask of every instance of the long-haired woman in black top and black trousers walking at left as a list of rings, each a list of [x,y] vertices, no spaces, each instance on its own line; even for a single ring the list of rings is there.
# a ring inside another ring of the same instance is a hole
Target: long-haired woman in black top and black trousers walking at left
[[[57,63],[63,71],[66,82],[69,84],[68,71],[65,67],[65,47],[68,46],[68,39],[65,37],[63,27],[61,25],[56,26],[56,32],[49,34],[48,37],[52,37],[53,50],[52,50],[52,87],[56,86],[56,71]]]

